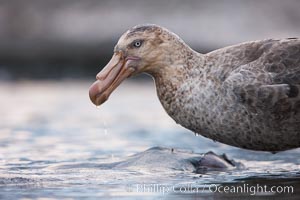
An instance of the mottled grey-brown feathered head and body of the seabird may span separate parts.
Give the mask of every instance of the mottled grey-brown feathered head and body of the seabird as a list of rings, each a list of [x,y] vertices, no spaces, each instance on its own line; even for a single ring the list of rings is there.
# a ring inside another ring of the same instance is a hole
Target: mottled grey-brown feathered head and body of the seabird
[[[200,54],[167,29],[142,25],[124,33],[115,54],[126,63],[122,70],[131,70],[124,78],[142,72],[154,77],[164,109],[183,127],[246,149],[300,147],[299,39],[246,42]],[[97,105],[120,83],[115,78],[102,97],[103,74],[90,90]]]

